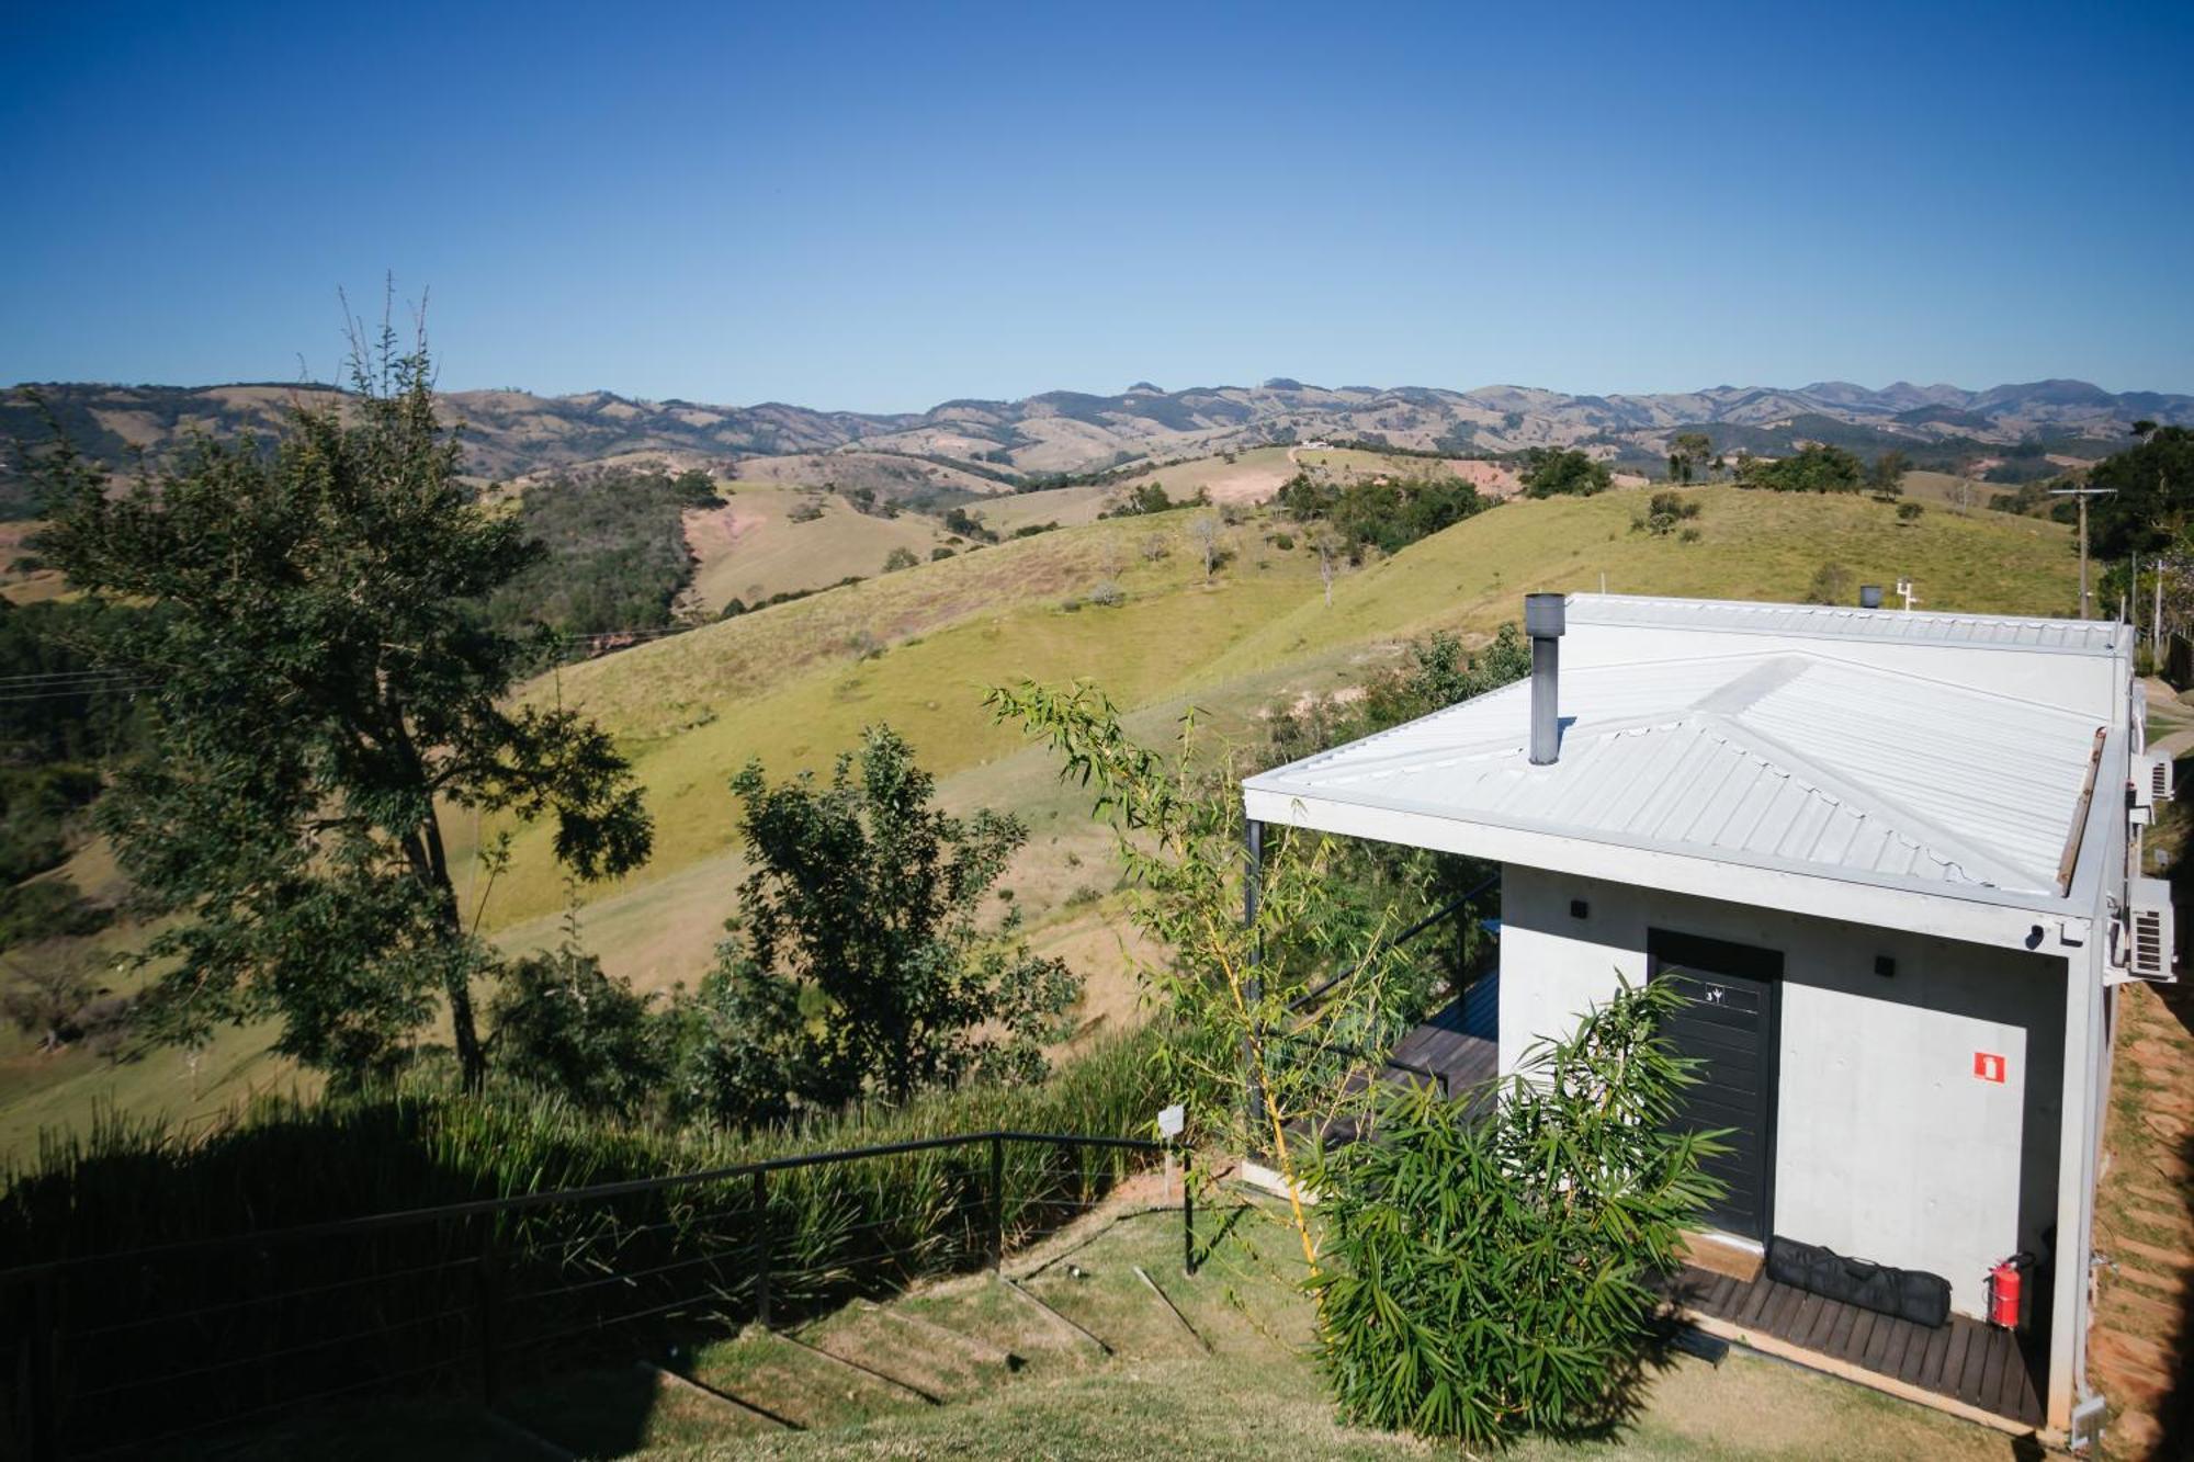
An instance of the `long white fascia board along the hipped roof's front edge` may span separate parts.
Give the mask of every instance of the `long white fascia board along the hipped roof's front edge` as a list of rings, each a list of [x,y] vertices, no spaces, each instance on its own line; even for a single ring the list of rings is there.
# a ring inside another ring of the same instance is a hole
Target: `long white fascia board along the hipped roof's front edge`
[[[1586,878],[1608,878],[1646,889],[1718,898],[1733,904],[1788,909],[1828,920],[1907,929],[1911,933],[2027,948],[2062,955],[2060,937],[2082,944],[2089,918],[2067,900],[2047,909],[2003,902],[1986,891],[1922,893],[1847,878],[1821,878],[1753,863],[1722,863],[1694,854],[1599,843],[1560,832],[1540,832],[1505,823],[1461,821],[1435,812],[1395,806],[1362,806],[1327,797],[1303,797],[1257,786],[1242,788],[1242,803],[1253,821],[1281,828],[1314,828],[1341,836],[1430,847],[1496,863],[1520,863]],[[2086,858],[2082,858],[2086,863]],[[2034,929],[2043,942],[2034,942]],[[2069,935],[2069,937],[2067,937]]]

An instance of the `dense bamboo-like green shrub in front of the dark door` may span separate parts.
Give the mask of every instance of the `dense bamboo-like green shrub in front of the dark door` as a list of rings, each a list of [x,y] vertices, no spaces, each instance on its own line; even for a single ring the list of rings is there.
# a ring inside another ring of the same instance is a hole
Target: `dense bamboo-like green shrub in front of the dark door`
[[[1314,1177],[1321,1365],[1356,1422],[1505,1444],[1624,1418],[1683,1229],[1718,1194],[1707,1133],[1670,1133],[1689,1082],[1656,1030],[1681,997],[1626,986],[1459,1122],[1384,1089],[1376,1142]]]

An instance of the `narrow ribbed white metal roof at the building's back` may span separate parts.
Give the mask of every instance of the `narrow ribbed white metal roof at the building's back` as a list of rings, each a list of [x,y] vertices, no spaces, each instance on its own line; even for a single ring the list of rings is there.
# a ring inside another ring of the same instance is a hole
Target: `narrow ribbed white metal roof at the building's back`
[[[1939,615],[1902,608],[1865,610],[1841,604],[1749,604],[1742,599],[1654,599],[1643,595],[1569,595],[1569,623],[2058,650],[2069,654],[2124,654],[2128,652],[2130,634],[2126,626],[2108,619]]]

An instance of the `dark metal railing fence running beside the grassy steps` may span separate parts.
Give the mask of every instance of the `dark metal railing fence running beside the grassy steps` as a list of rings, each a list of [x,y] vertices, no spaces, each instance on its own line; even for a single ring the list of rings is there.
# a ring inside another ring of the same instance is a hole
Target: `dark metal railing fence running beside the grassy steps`
[[[386,1392],[494,1405],[592,1359],[998,1264],[1158,1152],[974,1133],[9,1269],[0,1442],[44,1462]]]

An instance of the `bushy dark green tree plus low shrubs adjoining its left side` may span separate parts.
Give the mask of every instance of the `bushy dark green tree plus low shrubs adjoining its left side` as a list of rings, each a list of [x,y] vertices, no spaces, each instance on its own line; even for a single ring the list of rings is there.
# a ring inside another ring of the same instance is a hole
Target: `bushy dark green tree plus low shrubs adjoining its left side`
[[[998,887],[1018,819],[939,812],[889,727],[827,784],[750,764],[733,790],[753,871],[700,988],[636,994],[573,922],[498,981],[498,1065],[588,1111],[726,1126],[1044,1073],[1079,983]]]

